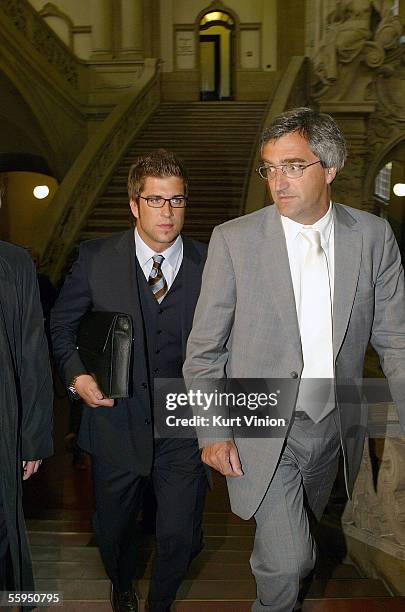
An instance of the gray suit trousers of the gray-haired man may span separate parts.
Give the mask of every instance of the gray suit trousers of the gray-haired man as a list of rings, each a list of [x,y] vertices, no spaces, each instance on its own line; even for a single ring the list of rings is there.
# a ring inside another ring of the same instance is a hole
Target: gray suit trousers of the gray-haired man
[[[300,583],[311,573],[316,544],[311,525],[320,520],[339,463],[336,412],[320,423],[293,422],[266,495],[255,513],[250,564],[257,583],[253,612],[291,612]]]

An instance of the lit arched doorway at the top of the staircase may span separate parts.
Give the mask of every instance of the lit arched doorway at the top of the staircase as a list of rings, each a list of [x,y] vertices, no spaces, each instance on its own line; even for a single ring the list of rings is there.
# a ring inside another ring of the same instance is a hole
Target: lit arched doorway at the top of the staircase
[[[200,99],[232,100],[235,21],[225,11],[209,11],[200,19],[199,34]]]

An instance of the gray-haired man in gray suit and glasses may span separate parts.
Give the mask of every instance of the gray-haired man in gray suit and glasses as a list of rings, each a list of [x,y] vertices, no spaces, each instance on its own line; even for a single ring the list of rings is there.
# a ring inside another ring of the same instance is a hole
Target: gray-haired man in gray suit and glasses
[[[221,428],[221,438],[199,439],[203,461],[227,476],[233,511],[256,520],[252,609],[291,612],[315,565],[311,525],[327,503],[340,449],[349,495],[359,469],[367,412],[344,397],[343,383],[361,379],[369,341],[405,429],[404,277],[388,223],[330,201],[346,158],[332,117],[286,112],[264,130],[261,152],[258,171],[275,206],[215,228],[184,375],[189,384],[297,383],[286,434],[252,439]],[[324,382],[316,401],[314,379]]]

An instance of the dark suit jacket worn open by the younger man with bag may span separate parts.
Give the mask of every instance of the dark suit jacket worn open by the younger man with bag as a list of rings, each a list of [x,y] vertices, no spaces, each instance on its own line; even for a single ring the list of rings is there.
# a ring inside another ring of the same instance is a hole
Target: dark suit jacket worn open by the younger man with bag
[[[179,312],[183,359],[200,293],[206,245],[183,237],[184,299]],[[123,312],[134,325],[132,390],[113,408],[84,406],[79,444],[98,458],[150,472],[153,426],[145,334],[137,285],[133,230],[82,243],[79,257],[51,314],[54,357],[66,384],[86,371],[76,349],[76,332],[89,310]]]

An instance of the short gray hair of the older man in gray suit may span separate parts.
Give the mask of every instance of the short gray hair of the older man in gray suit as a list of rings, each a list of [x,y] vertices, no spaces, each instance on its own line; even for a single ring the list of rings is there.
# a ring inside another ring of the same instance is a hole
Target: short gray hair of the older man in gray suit
[[[298,132],[308,141],[309,148],[324,168],[333,167],[339,172],[345,165],[346,142],[330,115],[304,106],[282,113],[264,128],[261,146],[292,132]]]

